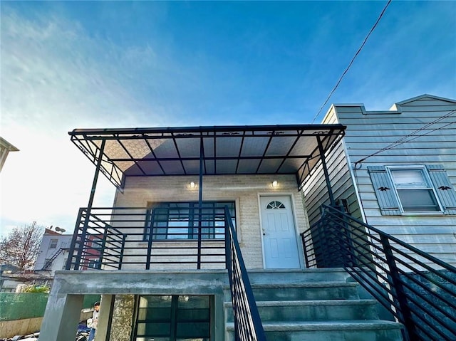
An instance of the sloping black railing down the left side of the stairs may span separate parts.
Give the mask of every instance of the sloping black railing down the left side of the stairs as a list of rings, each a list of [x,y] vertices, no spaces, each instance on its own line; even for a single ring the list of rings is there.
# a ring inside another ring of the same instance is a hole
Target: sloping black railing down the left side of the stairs
[[[242,258],[236,231],[225,207],[225,250],[237,341],[266,341],[254,293]]]

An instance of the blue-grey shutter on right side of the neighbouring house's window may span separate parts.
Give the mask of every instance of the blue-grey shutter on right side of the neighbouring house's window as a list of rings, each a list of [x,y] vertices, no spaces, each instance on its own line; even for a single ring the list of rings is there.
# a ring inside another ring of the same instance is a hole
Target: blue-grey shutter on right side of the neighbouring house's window
[[[445,214],[456,214],[456,193],[442,164],[428,164],[427,171]]]

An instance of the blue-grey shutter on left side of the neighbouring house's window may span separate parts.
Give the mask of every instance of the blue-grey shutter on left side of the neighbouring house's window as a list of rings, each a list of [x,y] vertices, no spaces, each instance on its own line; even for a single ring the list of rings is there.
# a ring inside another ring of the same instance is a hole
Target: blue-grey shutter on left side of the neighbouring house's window
[[[385,166],[368,166],[375,196],[383,216],[400,216],[399,202],[395,196],[393,183],[391,182]]]

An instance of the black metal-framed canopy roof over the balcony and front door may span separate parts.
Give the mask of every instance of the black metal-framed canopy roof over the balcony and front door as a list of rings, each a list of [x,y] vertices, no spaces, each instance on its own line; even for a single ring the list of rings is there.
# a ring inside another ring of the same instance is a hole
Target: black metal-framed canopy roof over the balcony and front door
[[[295,174],[304,179],[345,132],[343,125],[75,129],[71,141],[120,191],[127,176]],[[329,184],[328,184],[329,185]],[[90,200],[91,201],[91,200]]]

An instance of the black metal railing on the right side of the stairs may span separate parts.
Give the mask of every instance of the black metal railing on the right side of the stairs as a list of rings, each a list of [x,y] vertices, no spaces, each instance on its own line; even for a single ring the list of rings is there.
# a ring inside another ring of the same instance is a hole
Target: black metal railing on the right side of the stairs
[[[405,340],[456,340],[454,266],[331,206],[301,238],[308,268],[345,268],[403,323]]]

